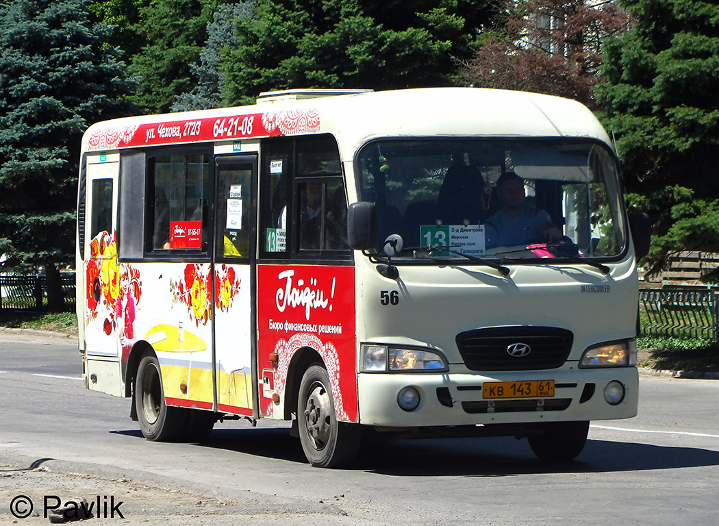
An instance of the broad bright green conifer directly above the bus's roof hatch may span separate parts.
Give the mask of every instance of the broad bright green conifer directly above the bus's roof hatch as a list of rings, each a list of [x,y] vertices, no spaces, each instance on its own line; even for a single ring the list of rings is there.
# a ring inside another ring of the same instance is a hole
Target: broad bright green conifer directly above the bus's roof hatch
[[[487,13],[470,0],[258,0],[221,63],[224,103],[273,89],[449,85]]]

